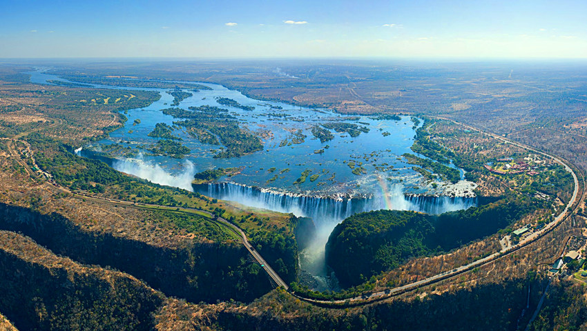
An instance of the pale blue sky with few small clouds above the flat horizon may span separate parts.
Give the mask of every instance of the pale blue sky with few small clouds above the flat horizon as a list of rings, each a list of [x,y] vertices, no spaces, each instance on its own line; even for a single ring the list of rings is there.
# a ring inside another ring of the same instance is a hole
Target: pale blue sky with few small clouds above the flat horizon
[[[587,58],[586,0],[0,0],[0,58]]]

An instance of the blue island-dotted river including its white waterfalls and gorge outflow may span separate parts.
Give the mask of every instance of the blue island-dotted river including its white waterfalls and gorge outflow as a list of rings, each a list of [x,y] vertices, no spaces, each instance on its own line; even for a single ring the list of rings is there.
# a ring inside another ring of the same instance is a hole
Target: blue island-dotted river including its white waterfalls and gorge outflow
[[[69,82],[49,74],[46,72],[48,69],[39,68],[35,72],[28,72],[31,82]],[[441,190],[432,188],[430,183],[424,185],[421,175],[412,170],[412,165],[405,163],[401,157],[405,152],[416,154],[410,147],[414,143],[415,130],[421,126],[422,121],[416,126],[412,117],[407,116],[399,120],[389,120],[373,116],[343,115],[324,109],[251,99],[218,84],[197,84],[207,86],[210,90],[193,92],[184,89],[193,95],[181,101],[176,107],[187,110],[190,106],[207,105],[228,109],[229,113],[238,119],[242,128],[264,137],[263,150],[242,157],[217,159],[213,155],[219,146],[200,143],[184,130],[177,129],[173,134],[180,137],[181,143],[191,152],[184,159],[153,156],[140,148],[157,142],[158,138],[148,137],[147,134],[157,123],[173,126],[173,121],[181,120],[161,112],[162,109],[171,107],[173,102],[169,89],[90,84],[94,88],[152,90],[159,92],[161,99],[148,107],[128,110],[125,113],[128,121],[124,128],[110,133],[107,139],[82,146],[79,154],[98,157],[99,152],[108,145],[118,143],[137,151],[133,157],[118,156],[115,161],[110,162],[110,165],[119,171],[163,185],[198,190],[218,199],[311,217],[318,234],[314,244],[302,252],[300,261],[302,269],[316,279],[313,285],[316,289],[323,290],[333,286],[329,282],[329,272],[323,262],[324,245],[334,226],[349,215],[378,209],[416,210],[437,214],[477,204],[477,199],[474,198],[418,198],[418,195],[442,193]],[[243,106],[255,109],[242,110],[222,106],[217,102],[220,97],[233,99]],[[321,143],[313,137],[310,129],[323,123],[354,123],[368,128],[369,132],[362,132],[358,137],[350,137],[345,132],[337,133],[331,130],[334,139]],[[298,131],[306,137],[302,143],[293,143],[292,132]],[[317,153],[318,150],[323,152]],[[366,173],[354,174],[349,164],[354,164],[355,168],[363,166]],[[242,167],[239,174],[229,179],[220,179],[219,183],[204,187],[191,185],[196,172],[238,167]],[[305,182],[294,183],[300,174],[307,170],[309,175],[318,174],[318,178],[310,180],[308,176]],[[412,194],[416,194],[416,197]]]

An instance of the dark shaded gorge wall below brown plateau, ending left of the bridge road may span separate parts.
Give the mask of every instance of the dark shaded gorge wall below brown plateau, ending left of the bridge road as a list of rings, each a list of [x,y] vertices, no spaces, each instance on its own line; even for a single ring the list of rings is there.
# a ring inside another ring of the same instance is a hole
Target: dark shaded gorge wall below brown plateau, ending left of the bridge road
[[[0,203],[0,229],[17,231],[80,263],[116,268],[166,295],[192,302],[250,301],[271,290],[258,263],[242,245],[185,241],[158,247],[88,232],[60,214],[39,214]]]

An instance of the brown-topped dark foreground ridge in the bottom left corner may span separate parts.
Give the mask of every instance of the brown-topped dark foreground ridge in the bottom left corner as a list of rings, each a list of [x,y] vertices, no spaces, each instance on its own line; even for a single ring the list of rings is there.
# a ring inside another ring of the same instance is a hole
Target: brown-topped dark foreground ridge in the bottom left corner
[[[0,311],[21,330],[151,330],[161,294],[0,231]]]

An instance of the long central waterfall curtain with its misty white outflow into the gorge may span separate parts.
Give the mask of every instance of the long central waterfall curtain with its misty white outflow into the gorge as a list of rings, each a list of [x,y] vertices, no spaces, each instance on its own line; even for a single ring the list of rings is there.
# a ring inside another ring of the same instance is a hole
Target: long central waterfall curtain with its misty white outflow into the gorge
[[[271,192],[237,183],[210,183],[193,185],[195,192],[208,197],[236,201],[255,208],[277,212],[291,212],[298,217],[309,217],[316,225],[316,235],[309,246],[300,252],[300,269],[311,275],[314,290],[337,290],[336,275],[325,263],[325,244],[334,227],[358,212],[394,209],[414,210],[427,214],[441,214],[467,209],[477,205],[476,197],[429,197],[403,193],[401,185],[394,185],[379,195],[363,198],[307,197]]]

